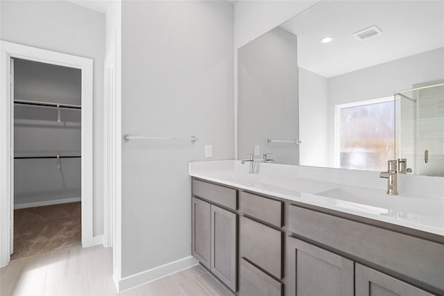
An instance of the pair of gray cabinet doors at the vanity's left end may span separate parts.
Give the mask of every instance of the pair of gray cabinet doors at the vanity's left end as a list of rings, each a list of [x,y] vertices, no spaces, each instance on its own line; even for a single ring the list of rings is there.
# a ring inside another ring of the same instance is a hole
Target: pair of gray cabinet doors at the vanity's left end
[[[198,198],[191,204],[191,254],[236,291],[237,214]]]

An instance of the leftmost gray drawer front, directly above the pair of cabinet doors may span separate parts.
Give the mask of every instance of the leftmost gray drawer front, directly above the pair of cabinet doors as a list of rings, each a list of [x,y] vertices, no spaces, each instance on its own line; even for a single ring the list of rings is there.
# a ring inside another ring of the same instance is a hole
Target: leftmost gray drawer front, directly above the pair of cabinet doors
[[[215,204],[221,204],[230,209],[237,209],[237,191],[227,187],[193,179],[193,195],[205,198]]]

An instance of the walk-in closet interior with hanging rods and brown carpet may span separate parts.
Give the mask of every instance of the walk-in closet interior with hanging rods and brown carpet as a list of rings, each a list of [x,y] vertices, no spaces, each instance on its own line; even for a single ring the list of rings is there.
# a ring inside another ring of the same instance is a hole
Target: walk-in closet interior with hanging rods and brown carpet
[[[82,73],[12,62],[15,259],[81,243]]]

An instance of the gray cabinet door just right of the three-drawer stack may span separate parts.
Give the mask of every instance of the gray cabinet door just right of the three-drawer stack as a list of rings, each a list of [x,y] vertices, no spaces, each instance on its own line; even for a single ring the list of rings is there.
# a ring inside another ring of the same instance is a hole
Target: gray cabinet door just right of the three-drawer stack
[[[292,237],[288,248],[292,254],[287,260],[294,269],[289,272],[294,279],[289,285],[296,284],[289,295],[354,295],[353,261]]]

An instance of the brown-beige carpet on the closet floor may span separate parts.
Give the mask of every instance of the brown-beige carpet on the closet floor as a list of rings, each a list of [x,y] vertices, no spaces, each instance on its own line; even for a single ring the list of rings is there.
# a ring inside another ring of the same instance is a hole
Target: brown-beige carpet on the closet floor
[[[80,202],[14,210],[14,253],[11,259],[79,245]]]

